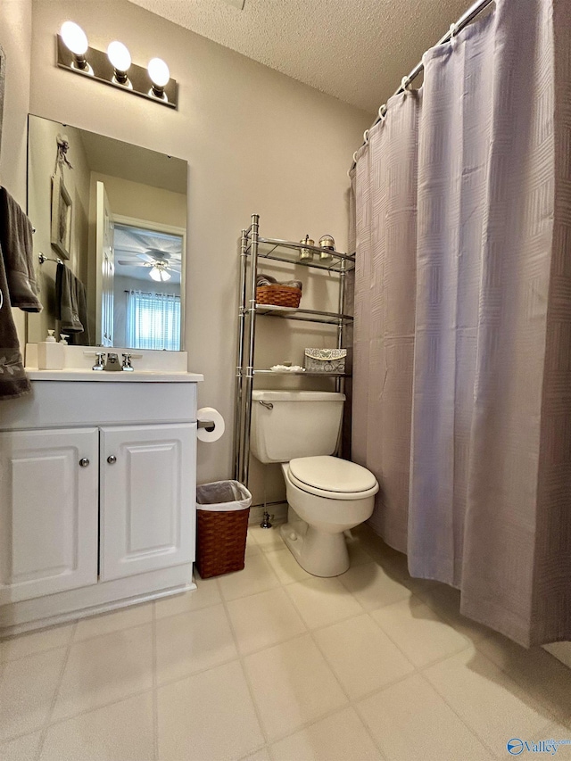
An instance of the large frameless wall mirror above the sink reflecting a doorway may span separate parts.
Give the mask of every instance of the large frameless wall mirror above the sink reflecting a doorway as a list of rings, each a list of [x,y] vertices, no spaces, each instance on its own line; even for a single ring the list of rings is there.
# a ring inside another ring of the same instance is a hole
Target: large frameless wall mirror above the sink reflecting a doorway
[[[186,161],[30,115],[28,215],[29,343],[184,349]]]

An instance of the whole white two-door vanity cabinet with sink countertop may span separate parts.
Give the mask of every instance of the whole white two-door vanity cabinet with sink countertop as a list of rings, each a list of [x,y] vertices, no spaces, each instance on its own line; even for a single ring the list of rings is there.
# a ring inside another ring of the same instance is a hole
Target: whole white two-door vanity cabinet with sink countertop
[[[194,588],[202,376],[100,375],[2,407],[0,636]]]

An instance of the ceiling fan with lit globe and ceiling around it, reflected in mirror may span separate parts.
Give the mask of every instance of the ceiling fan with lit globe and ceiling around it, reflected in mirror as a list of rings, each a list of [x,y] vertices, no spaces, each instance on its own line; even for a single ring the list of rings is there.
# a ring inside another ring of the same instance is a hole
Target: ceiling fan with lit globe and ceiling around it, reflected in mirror
[[[142,227],[116,224],[113,247],[118,264],[142,267],[158,283],[180,273],[182,237]]]

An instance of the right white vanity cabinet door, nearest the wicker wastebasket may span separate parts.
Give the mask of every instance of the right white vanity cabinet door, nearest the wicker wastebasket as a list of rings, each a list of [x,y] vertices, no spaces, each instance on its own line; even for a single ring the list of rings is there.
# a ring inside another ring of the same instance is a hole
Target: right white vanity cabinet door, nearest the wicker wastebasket
[[[101,429],[102,581],[194,560],[196,424]]]

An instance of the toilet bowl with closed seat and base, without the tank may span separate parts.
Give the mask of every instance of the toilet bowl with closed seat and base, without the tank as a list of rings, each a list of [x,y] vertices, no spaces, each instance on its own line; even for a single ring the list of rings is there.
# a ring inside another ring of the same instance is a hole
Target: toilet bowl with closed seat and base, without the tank
[[[373,512],[378,484],[365,467],[335,457],[282,464],[290,507],[280,528],[287,548],[308,573],[337,576],[349,568],[344,532]]]

